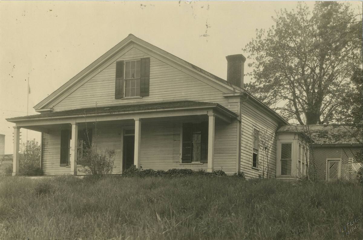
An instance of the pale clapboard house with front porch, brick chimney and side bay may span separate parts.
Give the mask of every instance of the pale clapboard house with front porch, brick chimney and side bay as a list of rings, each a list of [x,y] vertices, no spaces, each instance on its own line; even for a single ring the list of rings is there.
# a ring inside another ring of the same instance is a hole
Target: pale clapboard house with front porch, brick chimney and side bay
[[[41,132],[45,175],[80,174],[82,142],[114,149],[114,174],[132,164],[247,178],[306,174],[309,154],[302,170],[295,162],[299,144],[309,152],[309,136],[281,130],[289,123],[243,88],[246,58],[226,59],[224,80],[129,34],[35,105],[40,114],[7,119],[15,123],[13,175],[20,128]]]

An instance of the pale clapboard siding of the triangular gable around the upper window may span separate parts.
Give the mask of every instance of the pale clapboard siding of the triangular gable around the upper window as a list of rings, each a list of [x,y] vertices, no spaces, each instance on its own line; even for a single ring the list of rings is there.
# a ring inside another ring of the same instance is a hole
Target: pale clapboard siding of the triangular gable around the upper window
[[[222,96],[220,90],[147,55],[135,47],[118,60],[144,57],[150,57],[150,96],[139,99],[115,99],[116,62],[113,62],[66,96],[61,102],[48,107],[53,107],[54,111],[63,111],[94,107],[95,102],[97,102],[97,106],[102,107],[129,103],[193,100],[219,103],[229,108],[228,99]],[[234,112],[236,110],[236,108],[231,109]]]

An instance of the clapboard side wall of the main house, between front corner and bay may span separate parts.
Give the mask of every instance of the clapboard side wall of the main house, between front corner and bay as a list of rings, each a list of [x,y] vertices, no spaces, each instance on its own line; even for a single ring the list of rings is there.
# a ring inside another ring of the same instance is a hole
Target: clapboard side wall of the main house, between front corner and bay
[[[252,168],[252,134],[253,127],[260,131],[259,169]],[[267,171],[267,162],[271,176],[276,175],[276,135],[278,122],[264,113],[261,107],[250,101],[243,102],[241,106],[241,165],[240,169],[247,178],[258,178]],[[264,151],[264,144],[268,146],[268,161]]]

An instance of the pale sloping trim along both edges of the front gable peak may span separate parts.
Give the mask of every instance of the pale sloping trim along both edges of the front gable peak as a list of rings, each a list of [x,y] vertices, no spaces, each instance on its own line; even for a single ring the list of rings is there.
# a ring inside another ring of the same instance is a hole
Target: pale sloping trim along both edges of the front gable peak
[[[230,92],[230,93],[231,92],[244,92],[243,88],[241,88],[239,86],[235,86],[235,85],[225,81],[224,79],[219,78],[218,76],[201,69],[200,67],[197,67],[187,61],[184,61],[183,59],[181,59],[179,57],[176,57],[173,54],[168,53],[167,51],[160,49],[159,47],[156,47],[138,37],[135,37],[133,34],[129,34],[129,36],[127,36],[124,40],[122,40],[117,45],[115,45],[113,48],[108,50],[101,57],[97,58],[89,66],[87,66],[85,69],[83,69],[81,72],[79,72],[76,76],[74,76],[68,82],[66,82],[61,87],[59,87],[52,94],[50,94],[45,99],[43,99],[40,103],[36,104],[34,106],[34,109],[36,109],[36,111],[38,111],[39,109],[44,108],[46,105],[49,105],[49,103],[51,103],[53,100],[57,99],[65,91],[74,87],[78,82],[80,82],[82,79],[84,79],[88,74],[91,73],[91,71],[93,71],[97,67],[101,66],[103,63],[105,63],[107,60],[111,59],[115,55],[117,55],[117,53],[119,53],[119,51],[121,51],[123,48],[125,48],[127,45],[129,45],[132,42],[139,46],[143,46],[146,49],[150,49],[151,51],[158,53],[159,55],[162,55],[164,58],[167,58],[170,61],[173,61],[173,62],[177,63],[178,65],[181,65],[184,68],[187,68],[196,73],[199,73],[200,75],[209,79],[211,82],[218,83],[222,89],[227,89],[228,92]]]

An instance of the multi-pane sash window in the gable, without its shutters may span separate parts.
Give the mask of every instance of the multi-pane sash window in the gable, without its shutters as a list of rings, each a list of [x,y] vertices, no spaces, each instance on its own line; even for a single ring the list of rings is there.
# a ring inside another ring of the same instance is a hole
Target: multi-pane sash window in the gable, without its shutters
[[[125,97],[140,96],[140,60],[125,62]]]

